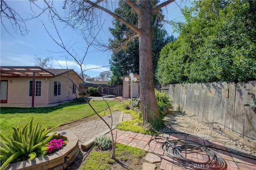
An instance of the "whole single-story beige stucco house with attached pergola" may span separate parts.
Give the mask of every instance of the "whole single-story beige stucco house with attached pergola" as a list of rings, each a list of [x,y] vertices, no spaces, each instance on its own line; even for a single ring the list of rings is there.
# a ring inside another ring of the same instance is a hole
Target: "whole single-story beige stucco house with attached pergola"
[[[72,69],[1,66],[1,103],[52,104],[73,100],[83,80]],[[34,86],[33,86],[34,85]]]

